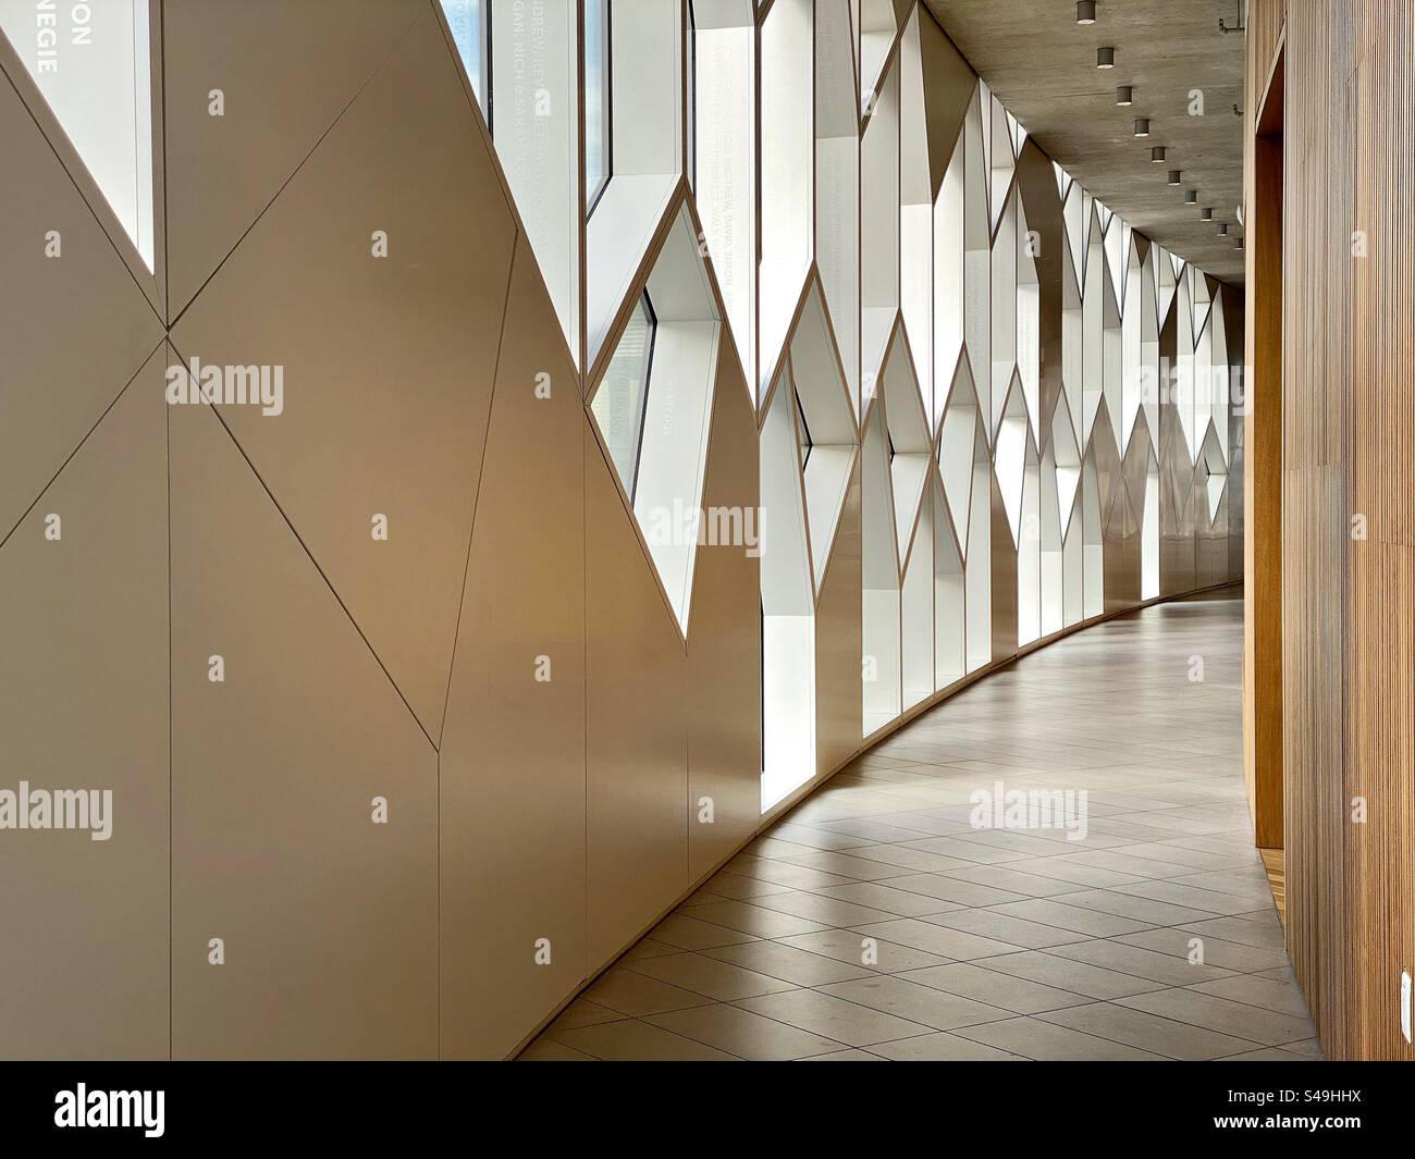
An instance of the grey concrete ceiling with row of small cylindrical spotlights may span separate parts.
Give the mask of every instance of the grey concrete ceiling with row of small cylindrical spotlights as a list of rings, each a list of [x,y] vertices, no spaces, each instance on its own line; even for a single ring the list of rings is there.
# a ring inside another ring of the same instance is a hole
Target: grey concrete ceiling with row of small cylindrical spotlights
[[[1095,24],[1075,23],[1074,0],[925,0],[944,31],[1051,158],[1153,241],[1215,277],[1242,283],[1244,35],[1238,0],[1098,0]],[[1115,48],[1115,68],[1095,67]],[[1131,85],[1135,103],[1118,108]],[[1190,92],[1203,115],[1190,116]],[[1135,137],[1149,117],[1150,136]],[[1162,164],[1150,147],[1165,146]],[[1166,184],[1169,170],[1183,184]],[[1184,191],[1199,204],[1186,205]],[[1211,222],[1199,211],[1210,207]],[[1218,222],[1228,236],[1218,236]]]

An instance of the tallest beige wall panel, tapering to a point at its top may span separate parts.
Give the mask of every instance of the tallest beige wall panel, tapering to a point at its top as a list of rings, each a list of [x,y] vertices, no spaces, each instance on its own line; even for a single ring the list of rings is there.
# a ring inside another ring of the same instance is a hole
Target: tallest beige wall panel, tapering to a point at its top
[[[522,239],[440,756],[444,1059],[504,1057],[586,971],[584,408],[558,331]]]

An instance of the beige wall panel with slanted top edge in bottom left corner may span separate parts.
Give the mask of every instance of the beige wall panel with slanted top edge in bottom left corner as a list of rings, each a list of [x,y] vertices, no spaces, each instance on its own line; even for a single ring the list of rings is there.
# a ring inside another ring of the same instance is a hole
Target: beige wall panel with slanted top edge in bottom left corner
[[[112,791],[106,841],[0,832],[6,1059],[167,1057],[164,367],[154,355],[0,549],[0,788]]]

